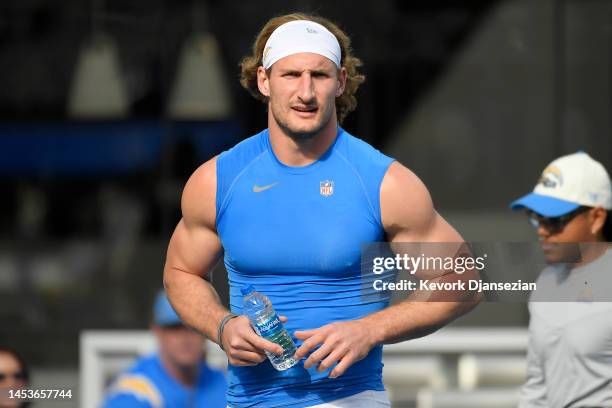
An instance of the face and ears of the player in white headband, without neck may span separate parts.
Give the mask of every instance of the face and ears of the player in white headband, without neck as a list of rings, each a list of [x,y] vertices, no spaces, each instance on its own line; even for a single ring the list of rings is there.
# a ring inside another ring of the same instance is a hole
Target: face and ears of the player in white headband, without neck
[[[335,123],[335,101],[346,84],[344,68],[304,52],[281,58],[268,72],[259,67],[257,74],[259,90],[269,99],[271,120],[288,136],[311,138],[330,121]]]

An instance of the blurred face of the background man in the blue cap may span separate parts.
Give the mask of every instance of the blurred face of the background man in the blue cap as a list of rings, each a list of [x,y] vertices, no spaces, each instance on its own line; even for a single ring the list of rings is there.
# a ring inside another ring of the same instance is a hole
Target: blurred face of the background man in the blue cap
[[[153,326],[160,352],[179,368],[194,368],[204,358],[204,338],[184,325]]]

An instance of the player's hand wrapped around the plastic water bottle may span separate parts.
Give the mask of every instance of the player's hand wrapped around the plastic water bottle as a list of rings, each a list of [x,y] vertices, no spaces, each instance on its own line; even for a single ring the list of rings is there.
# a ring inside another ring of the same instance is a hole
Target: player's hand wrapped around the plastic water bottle
[[[285,316],[280,316],[284,323]],[[276,343],[260,337],[246,316],[238,316],[231,319],[223,328],[221,342],[229,363],[234,366],[254,366],[265,361],[267,356],[264,351],[273,354],[282,354],[283,348]]]

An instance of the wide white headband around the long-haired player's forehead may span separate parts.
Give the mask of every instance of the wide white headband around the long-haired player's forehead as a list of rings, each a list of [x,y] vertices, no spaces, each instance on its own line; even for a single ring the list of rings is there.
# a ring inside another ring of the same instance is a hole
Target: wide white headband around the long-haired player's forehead
[[[300,52],[312,52],[329,58],[340,68],[340,44],[329,30],[309,20],[295,20],[278,27],[263,52],[263,67],[268,69],[281,58]]]

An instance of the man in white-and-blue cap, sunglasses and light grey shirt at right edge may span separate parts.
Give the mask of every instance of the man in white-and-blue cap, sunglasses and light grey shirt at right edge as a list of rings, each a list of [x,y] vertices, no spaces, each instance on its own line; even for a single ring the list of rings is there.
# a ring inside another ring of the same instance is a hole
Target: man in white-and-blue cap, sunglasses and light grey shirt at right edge
[[[529,301],[527,382],[519,407],[611,407],[608,173],[586,153],[560,157],[511,208],[526,212],[548,263]]]

